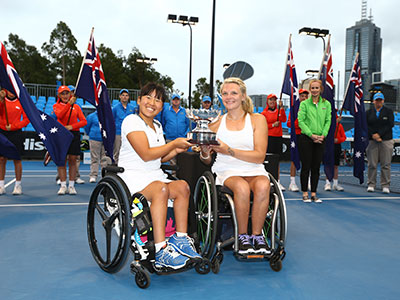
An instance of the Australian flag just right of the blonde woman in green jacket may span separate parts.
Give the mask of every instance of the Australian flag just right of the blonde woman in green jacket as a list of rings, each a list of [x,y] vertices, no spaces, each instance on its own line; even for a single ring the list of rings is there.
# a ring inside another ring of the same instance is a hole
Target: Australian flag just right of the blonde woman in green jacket
[[[331,127],[329,128],[328,136],[325,139],[325,152],[323,157],[325,174],[328,180],[333,179],[335,165],[335,130],[336,130],[336,110],[334,98],[333,84],[333,68],[332,68],[332,52],[331,52],[331,36],[329,35],[328,43],[324,52],[319,79],[322,81],[324,92],[322,98],[325,98],[331,103]]]

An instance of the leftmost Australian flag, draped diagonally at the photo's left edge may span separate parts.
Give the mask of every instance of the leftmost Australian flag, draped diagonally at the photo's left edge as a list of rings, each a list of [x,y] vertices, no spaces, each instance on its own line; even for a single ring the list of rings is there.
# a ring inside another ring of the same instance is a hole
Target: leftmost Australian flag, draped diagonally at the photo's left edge
[[[67,151],[73,138],[72,133],[52,117],[36,108],[3,43],[1,43],[0,86],[17,96],[54,163],[57,166],[64,166]]]

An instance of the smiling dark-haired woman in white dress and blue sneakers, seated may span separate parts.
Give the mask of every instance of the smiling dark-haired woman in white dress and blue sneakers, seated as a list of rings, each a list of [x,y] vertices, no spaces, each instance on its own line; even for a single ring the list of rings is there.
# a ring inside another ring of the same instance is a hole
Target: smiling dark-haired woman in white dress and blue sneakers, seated
[[[127,116],[121,128],[119,166],[125,171],[120,177],[131,194],[140,191],[151,203],[155,243],[155,266],[180,269],[190,262],[201,260],[192,239],[187,235],[190,189],[183,180],[171,181],[161,170],[161,162],[186,151],[192,144],[178,138],[165,144],[161,124],[154,117],[167,99],[162,86],[145,85],[137,100],[138,115]],[[176,233],[165,240],[168,199],[174,200]]]

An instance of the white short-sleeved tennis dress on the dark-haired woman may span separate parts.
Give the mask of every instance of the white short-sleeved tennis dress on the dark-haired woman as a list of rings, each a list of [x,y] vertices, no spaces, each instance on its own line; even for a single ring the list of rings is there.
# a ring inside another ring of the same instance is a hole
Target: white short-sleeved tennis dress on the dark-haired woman
[[[163,129],[157,120],[154,120],[156,131],[149,127],[138,115],[128,115],[121,126],[121,150],[118,165],[125,171],[118,174],[128,186],[131,194],[143,190],[153,181],[170,182],[167,175],[161,170],[161,158],[144,161],[133,149],[127,135],[133,131],[144,131],[150,148],[165,144]]]

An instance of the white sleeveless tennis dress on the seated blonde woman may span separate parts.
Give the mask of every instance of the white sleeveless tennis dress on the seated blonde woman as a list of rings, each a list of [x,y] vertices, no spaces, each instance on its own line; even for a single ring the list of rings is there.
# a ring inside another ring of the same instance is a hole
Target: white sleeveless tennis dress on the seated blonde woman
[[[217,139],[227,144],[230,148],[239,150],[254,150],[253,126],[250,114],[246,114],[245,125],[242,130],[231,131],[226,128],[226,115],[222,117],[217,131]],[[225,180],[232,176],[260,176],[268,177],[263,164],[256,164],[237,159],[230,155],[218,153],[212,166],[212,171],[217,174],[216,184],[223,185]]]

